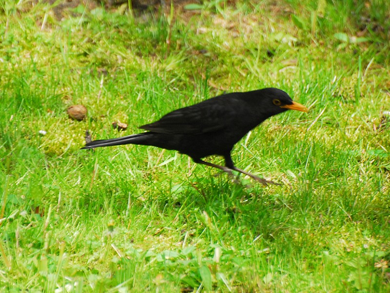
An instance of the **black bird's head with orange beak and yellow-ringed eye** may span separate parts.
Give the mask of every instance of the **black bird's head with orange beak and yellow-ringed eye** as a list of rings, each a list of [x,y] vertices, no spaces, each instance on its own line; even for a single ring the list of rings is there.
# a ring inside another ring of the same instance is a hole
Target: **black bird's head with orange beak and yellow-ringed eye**
[[[297,110],[308,112],[308,108],[297,102],[292,101],[290,96],[278,88],[264,88],[261,89],[261,96],[264,97],[263,107],[271,115],[275,115],[287,110]],[[265,104],[265,105],[264,105]]]

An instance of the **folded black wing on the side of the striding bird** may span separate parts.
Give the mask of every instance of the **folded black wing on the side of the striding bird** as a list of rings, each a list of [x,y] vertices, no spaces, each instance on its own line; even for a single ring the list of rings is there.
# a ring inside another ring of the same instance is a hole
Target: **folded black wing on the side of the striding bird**
[[[224,105],[223,101],[213,102],[177,109],[139,128],[167,134],[202,134],[223,129],[232,120],[231,107]]]

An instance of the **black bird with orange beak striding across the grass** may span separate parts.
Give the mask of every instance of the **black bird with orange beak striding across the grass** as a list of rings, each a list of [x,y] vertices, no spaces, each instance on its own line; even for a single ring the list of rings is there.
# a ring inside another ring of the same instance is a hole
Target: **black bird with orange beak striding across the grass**
[[[308,111],[305,106],[293,102],[286,92],[277,88],[224,94],[177,109],[154,123],[139,127],[147,132],[92,141],[82,149],[127,144],[175,149],[190,156],[195,163],[228,173],[235,170],[264,185],[274,184],[235,167],[231,151],[234,144],[255,126],[288,109]],[[223,156],[225,166],[202,160],[210,155]]]

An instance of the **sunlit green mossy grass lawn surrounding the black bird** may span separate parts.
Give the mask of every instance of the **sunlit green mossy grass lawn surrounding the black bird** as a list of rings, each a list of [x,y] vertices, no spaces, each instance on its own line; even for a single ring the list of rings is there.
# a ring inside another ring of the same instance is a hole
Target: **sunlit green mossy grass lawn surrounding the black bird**
[[[42,2],[2,2],[1,291],[389,292],[388,4],[80,5],[58,21]],[[266,86],[310,112],[267,120],[233,159],[280,187],[154,147],[79,150],[87,129],[136,133]]]

